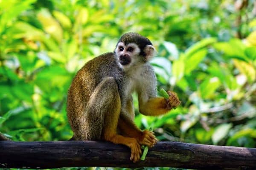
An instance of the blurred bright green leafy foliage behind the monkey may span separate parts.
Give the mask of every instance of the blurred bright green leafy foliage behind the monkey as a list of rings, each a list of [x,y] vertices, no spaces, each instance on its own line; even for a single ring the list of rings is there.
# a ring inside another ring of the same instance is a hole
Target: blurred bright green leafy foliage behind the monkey
[[[157,138],[256,147],[254,0],[0,0],[0,132],[68,140],[67,90],[93,57],[138,32],[157,48],[158,89],[182,105],[136,124]]]

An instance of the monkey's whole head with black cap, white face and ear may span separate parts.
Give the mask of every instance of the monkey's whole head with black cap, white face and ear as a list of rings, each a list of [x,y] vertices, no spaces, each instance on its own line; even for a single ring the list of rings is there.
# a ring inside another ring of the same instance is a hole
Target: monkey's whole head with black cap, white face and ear
[[[126,33],[117,42],[114,52],[123,68],[131,68],[148,62],[156,50],[148,38],[138,33]]]

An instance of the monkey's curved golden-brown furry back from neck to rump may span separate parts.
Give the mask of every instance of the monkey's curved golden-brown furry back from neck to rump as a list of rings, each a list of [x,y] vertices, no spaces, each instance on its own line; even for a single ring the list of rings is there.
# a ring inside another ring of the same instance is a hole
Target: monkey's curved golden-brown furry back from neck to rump
[[[67,95],[67,117],[74,133],[86,131],[83,114],[97,85],[105,77],[122,76],[115,54],[106,53],[87,62],[74,77]],[[104,94],[102,94],[104,95]],[[79,135],[79,134],[78,134]]]

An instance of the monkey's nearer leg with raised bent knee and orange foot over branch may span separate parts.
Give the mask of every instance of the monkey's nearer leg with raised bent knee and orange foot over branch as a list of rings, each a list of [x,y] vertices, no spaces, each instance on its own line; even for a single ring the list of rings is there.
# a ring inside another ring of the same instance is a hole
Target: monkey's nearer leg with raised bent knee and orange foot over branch
[[[141,149],[137,140],[135,138],[124,137],[116,133],[121,111],[121,99],[119,96],[118,86],[113,77],[106,77],[97,86],[93,96],[88,102],[87,111],[91,116],[95,116],[95,114],[103,116],[102,139],[130,147],[130,159],[134,162],[140,160]]]

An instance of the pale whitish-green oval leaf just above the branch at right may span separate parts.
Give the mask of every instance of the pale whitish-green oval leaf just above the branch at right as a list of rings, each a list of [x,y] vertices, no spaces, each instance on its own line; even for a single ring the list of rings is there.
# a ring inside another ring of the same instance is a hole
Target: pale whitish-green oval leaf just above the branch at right
[[[223,139],[225,136],[227,136],[227,133],[232,127],[232,123],[229,124],[221,124],[218,125],[212,134],[212,142],[213,144],[218,144],[218,142]]]

